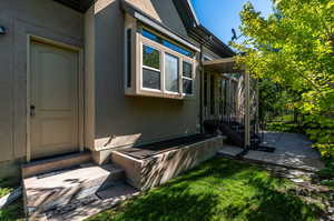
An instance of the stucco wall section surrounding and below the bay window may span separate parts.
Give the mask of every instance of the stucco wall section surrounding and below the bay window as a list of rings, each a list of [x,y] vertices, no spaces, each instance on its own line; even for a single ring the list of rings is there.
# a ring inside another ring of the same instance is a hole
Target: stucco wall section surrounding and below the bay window
[[[104,7],[101,2],[105,3]],[[151,6],[156,6],[157,2],[151,3]],[[173,12],[174,19],[178,18],[171,0],[160,2],[164,2],[163,4],[166,6],[156,7],[155,11],[161,11],[165,7],[175,11]],[[167,2],[171,6],[168,6]],[[100,0],[97,2],[99,7],[95,14],[96,139],[140,134],[139,140],[136,142],[137,144],[198,132],[198,74],[196,99],[180,101],[125,96],[125,21],[119,3],[117,0]],[[167,17],[166,12],[164,17]],[[181,23],[180,19],[177,22],[170,21],[170,27],[180,26],[179,23]],[[169,26],[169,23],[166,23],[166,26]],[[183,27],[183,29],[185,28]],[[108,149],[108,145],[105,149]]]

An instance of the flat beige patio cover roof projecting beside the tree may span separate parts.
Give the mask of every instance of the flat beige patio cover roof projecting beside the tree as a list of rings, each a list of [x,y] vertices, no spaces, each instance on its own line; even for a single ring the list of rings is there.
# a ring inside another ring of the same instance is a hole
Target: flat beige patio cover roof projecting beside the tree
[[[243,73],[245,69],[236,66],[235,58],[224,58],[210,61],[203,61],[203,68],[206,71],[213,71],[217,73]]]

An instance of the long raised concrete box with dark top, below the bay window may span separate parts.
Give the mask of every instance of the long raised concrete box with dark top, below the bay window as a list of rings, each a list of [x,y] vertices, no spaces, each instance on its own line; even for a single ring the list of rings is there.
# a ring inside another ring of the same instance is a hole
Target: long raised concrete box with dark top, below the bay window
[[[223,137],[197,134],[139,148],[115,151],[112,162],[122,167],[127,181],[139,190],[165,183],[214,157]]]

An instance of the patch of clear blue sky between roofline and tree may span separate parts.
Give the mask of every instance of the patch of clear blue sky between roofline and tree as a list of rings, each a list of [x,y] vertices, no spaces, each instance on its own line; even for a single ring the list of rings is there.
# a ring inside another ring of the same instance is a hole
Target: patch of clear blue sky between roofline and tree
[[[232,29],[240,24],[239,11],[247,0],[191,0],[202,24],[227,43],[232,38]],[[249,0],[263,16],[272,12],[271,0]]]

